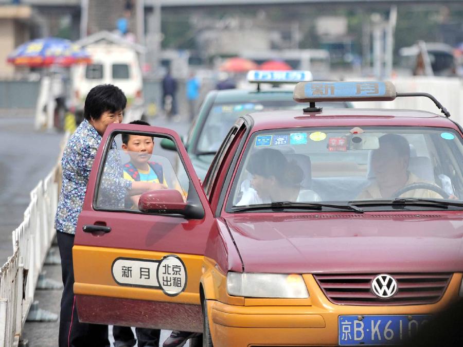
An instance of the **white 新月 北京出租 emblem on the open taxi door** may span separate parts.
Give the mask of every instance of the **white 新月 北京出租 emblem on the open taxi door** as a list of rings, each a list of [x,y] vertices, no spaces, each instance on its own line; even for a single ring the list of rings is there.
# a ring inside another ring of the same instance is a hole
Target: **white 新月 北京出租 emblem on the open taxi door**
[[[162,289],[168,296],[179,295],[187,284],[185,264],[173,254],[162,260],[116,258],[111,272],[121,286]]]

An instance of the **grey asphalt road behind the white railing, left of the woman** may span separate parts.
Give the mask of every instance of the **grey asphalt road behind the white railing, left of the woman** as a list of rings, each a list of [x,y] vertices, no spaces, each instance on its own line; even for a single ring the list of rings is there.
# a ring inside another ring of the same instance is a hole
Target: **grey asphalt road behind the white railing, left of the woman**
[[[11,232],[23,221],[29,193],[56,163],[62,133],[33,130],[33,114],[0,112],[0,266],[13,254]]]

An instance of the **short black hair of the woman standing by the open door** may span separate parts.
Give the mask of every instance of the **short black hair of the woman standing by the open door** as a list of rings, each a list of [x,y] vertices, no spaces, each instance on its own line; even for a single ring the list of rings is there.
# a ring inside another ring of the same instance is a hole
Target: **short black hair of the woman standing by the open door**
[[[120,88],[112,84],[100,84],[90,89],[85,98],[84,118],[98,120],[104,112],[122,111],[126,105],[127,98]]]

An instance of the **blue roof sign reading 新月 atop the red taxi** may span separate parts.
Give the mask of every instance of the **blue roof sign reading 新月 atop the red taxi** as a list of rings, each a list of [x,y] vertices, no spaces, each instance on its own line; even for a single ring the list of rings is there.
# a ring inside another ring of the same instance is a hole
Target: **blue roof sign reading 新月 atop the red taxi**
[[[293,93],[297,102],[391,101],[396,96],[396,87],[389,81],[302,82]]]

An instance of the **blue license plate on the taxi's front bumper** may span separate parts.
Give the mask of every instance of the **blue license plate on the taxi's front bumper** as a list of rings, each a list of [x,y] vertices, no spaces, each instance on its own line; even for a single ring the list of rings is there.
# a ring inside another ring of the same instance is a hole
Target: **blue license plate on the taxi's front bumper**
[[[430,315],[339,316],[339,344],[400,344],[414,336]]]

